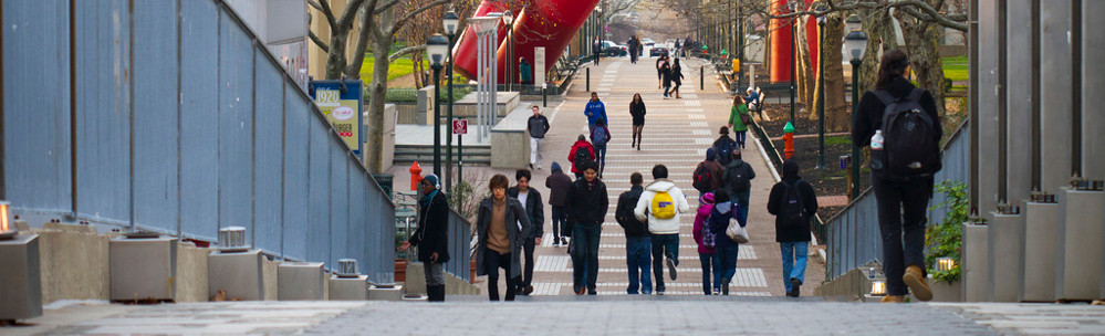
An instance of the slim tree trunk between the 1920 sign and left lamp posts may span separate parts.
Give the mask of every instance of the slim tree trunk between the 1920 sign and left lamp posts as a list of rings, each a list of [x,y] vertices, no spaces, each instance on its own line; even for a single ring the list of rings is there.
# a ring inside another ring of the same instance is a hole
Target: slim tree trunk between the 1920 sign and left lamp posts
[[[373,50],[373,73],[372,84],[368,84],[368,154],[366,166],[371,172],[384,171],[381,159],[384,155],[384,97],[387,95],[387,67],[388,50],[392,46],[393,36],[375,39],[376,48]]]

